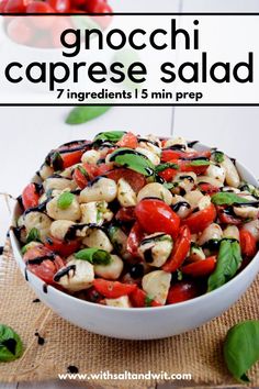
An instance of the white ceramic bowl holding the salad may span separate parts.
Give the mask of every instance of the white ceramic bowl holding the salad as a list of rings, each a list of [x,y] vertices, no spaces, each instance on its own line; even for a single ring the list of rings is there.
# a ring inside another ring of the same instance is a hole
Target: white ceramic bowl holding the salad
[[[207,147],[199,144],[199,149]],[[258,185],[252,174],[237,164],[241,178]],[[16,203],[13,222],[20,214]],[[10,233],[13,254],[23,274],[25,265],[20,244]],[[158,308],[113,308],[94,304],[66,294],[50,286],[44,292],[44,282],[27,271],[27,281],[36,296],[59,316],[90,332],[124,340],[162,338],[193,330],[226,311],[250,286],[259,271],[259,254],[236,277],[223,287],[195,299]]]

